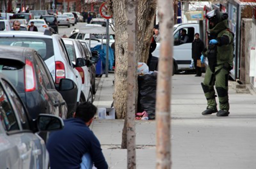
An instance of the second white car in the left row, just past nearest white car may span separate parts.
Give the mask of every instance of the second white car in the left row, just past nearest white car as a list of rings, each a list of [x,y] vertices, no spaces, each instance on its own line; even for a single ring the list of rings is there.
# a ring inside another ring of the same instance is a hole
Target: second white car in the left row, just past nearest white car
[[[74,39],[63,39],[65,47],[68,50],[68,55],[74,65],[76,65],[76,60],[78,58],[85,60],[87,63],[83,67],[75,67],[82,77],[82,93],[83,97],[80,97],[80,102],[90,101],[93,102],[93,90],[91,88],[91,76],[89,72],[89,67],[93,65],[90,59],[85,58],[85,53],[82,44],[78,40]]]

